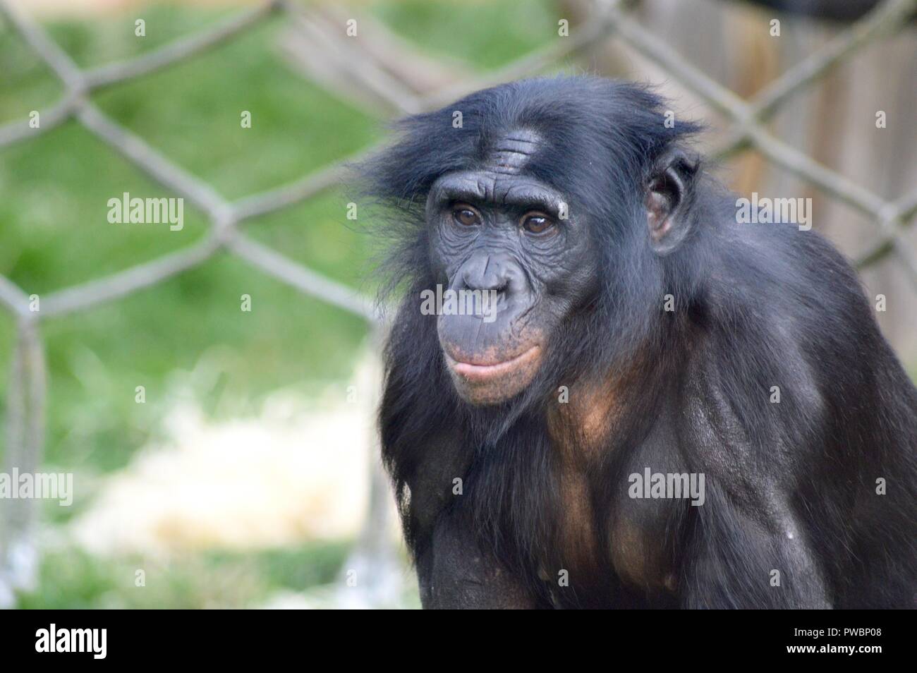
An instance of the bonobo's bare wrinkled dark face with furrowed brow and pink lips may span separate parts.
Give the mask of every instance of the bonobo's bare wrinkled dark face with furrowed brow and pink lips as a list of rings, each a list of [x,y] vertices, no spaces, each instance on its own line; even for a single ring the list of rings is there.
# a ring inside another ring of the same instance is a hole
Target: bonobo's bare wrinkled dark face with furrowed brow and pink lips
[[[585,223],[564,194],[525,174],[542,149],[531,131],[506,134],[480,170],[448,173],[427,198],[436,276],[459,307],[481,309],[443,310],[437,319],[452,381],[472,404],[525,390],[548,342],[596,282]]]

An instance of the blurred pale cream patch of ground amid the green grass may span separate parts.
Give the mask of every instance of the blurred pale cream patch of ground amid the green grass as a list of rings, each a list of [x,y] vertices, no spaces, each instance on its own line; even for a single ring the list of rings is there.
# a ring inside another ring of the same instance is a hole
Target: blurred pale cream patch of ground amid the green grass
[[[105,476],[69,533],[94,554],[249,549],[354,537],[378,459],[367,356],[317,400],[277,392],[256,417],[214,422],[175,406],[170,439]]]

